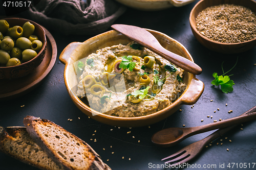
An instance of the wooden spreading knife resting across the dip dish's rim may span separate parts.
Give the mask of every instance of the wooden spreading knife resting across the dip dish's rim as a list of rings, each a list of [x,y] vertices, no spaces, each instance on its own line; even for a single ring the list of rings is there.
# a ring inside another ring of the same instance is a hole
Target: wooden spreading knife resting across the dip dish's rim
[[[122,25],[122,24],[115,24],[115,25],[112,25],[111,27],[114,30],[122,33],[126,37],[129,37],[135,42],[141,44],[142,46],[145,46],[146,48],[150,49],[156,54],[162,56],[166,60],[177,65],[178,67],[195,75],[201,74],[202,72],[201,67],[199,67],[197,64],[195,64],[194,62],[184,57],[181,57],[175,53],[172,53],[166,50],[150,32],[140,27]]]

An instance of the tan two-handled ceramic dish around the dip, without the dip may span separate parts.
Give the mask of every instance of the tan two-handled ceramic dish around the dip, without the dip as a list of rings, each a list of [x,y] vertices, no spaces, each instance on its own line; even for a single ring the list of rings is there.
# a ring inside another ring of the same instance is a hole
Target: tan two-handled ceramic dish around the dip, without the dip
[[[148,29],[146,30],[151,32],[167,50],[193,61],[193,58],[190,56],[186,48],[178,41],[163,33]],[[92,37],[82,43],[72,42],[62,51],[59,59],[63,64],[66,64],[64,70],[66,88],[72,101],[83,113],[97,120],[98,122],[111,126],[141,127],[157,123],[160,120],[172,115],[181,107],[181,105],[193,105],[197,102],[203,93],[204,84],[200,80],[196,79],[195,75],[185,71],[183,83],[186,84],[186,88],[184,89],[183,93],[180,94],[180,96],[177,96],[177,100],[172,105],[150,115],[139,117],[117,117],[97,112],[84,104],[76,96],[77,84],[79,81],[78,77],[80,75],[76,74],[74,63],[84,57],[87,57],[91,53],[95,53],[96,50],[103,47],[118,45],[119,43],[127,44],[131,41],[131,39],[113,30]]]

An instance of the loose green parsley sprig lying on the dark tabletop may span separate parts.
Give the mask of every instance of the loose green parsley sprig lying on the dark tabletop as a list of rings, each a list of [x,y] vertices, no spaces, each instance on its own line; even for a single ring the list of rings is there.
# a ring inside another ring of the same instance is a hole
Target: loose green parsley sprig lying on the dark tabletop
[[[229,78],[229,76],[232,76],[232,75],[229,75],[229,76],[224,76],[224,75],[227,74],[229,71],[231,71],[237,65],[238,58],[237,58],[236,64],[234,64],[234,66],[230,70],[225,72],[225,73],[224,73],[224,69],[223,69],[223,63],[224,63],[224,61],[221,64],[223,75],[218,76],[217,72],[214,72],[214,74],[212,74],[212,76],[215,78],[215,80],[212,80],[211,84],[212,85],[216,85],[216,86],[221,85],[222,92],[228,93],[228,92],[233,91],[233,87],[232,86],[234,85],[234,82],[232,80],[230,80],[230,78]]]

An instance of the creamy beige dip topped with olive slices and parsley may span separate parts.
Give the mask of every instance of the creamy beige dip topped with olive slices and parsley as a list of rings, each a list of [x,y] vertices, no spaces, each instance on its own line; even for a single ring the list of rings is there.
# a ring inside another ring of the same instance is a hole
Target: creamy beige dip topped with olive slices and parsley
[[[83,70],[77,96],[98,112],[135,117],[157,112],[178,99],[183,69],[138,43],[97,50],[77,64]]]

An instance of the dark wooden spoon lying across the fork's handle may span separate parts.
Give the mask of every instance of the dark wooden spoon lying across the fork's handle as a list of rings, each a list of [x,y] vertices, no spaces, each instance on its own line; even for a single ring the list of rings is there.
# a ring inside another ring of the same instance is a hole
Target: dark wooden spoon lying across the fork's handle
[[[196,135],[199,133],[203,133],[203,132],[207,132],[215,129],[225,128],[232,125],[241,124],[243,122],[247,122],[249,120],[253,120],[256,118],[256,112],[255,112],[256,106],[252,109],[254,112],[250,113],[247,111],[246,114],[242,114],[238,117],[222,120],[217,123],[211,123],[211,124],[202,125],[198,127],[191,127],[191,128],[163,129],[161,131],[158,131],[152,136],[152,142],[157,145],[160,145],[161,147],[170,147],[192,135]]]

